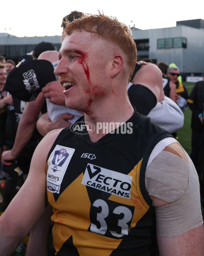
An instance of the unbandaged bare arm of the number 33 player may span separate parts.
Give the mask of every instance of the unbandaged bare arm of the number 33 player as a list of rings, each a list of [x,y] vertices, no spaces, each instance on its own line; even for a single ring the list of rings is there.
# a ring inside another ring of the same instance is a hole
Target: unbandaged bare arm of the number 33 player
[[[47,205],[46,161],[59,130],[36,147],[28,178],[0,217],[0,255],[10,255],[29,233]]]

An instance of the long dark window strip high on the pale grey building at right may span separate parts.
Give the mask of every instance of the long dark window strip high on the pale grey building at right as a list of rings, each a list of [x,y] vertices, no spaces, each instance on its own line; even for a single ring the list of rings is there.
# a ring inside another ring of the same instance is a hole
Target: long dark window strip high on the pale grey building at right
[[[157,49],[186,48],[187,39],[184,37],[157,39]]]

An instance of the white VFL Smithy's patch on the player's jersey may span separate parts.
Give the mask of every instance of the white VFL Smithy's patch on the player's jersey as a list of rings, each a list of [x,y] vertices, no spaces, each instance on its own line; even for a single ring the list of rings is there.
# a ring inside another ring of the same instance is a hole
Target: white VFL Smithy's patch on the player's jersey
[[[60,193],[60,186],[74,151],[74,148],[60,145],[56,145],[52,151],[47,172],[47,189],[50,192]]]

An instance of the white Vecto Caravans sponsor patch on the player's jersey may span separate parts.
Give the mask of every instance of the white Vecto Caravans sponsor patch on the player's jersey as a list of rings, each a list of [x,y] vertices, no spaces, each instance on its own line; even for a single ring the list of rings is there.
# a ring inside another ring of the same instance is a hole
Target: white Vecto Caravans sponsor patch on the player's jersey
[[[130,199],[132,177],[88,163],[82,184]]]

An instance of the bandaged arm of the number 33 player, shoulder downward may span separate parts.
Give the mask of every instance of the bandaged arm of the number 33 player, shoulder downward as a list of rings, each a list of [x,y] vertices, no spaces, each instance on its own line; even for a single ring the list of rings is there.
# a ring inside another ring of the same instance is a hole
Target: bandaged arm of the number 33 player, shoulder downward
[[[156,210],[157,241],[160,256],[202,256],[204,255],[204,228],[202,224],[198,175],[189,156],[185,154],[178,143],[166,146],[163,152],[167,152],[169,158],[175,160],[172,163],[172,170],[169,169],[167,171],[170,175],[169,179],[172,175],[171,173],[174,176],[176,167],[177,173],[175,175],[177,176],[175,182],[171,179],[171,190],[168,190],[168,188],[164,189],[162,190],[163,194],[157,192],[158,197],[150,196]],[[159,156],[159,159],[162,161],[162,155]],[[165,159],[168,162],[167,165],[169,165],[171,160]],[[163,169],[165,168],[164,166],[162,167]],[[184,170],[182,170],[182,167]],[[166,176],[167,172],[164,170],[164,176]],[[160,182],[159,180],[157,181],[158,183]],[[169,186],[168,179],[163,177],[162,182],[164,187]],[[176,196],[174,187],[179,183],[180,187],[177,188],[178,196]],[[162,198],[166,198],[166,201]],[[168,216],[171,216],[171,218]]]

